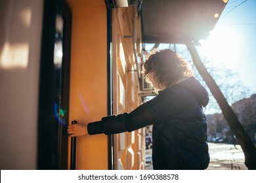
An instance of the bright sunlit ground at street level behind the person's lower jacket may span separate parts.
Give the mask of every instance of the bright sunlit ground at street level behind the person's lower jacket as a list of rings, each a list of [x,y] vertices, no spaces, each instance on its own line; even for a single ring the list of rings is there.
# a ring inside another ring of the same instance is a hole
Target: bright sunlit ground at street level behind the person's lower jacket
[[[209,143],[210,163],[207,170],[247,170],[244,164],[244,152],[240,145]],[[146,157],[152,150],[146,150]],[[152,163],[146,163],[146,170],[152,170]]]

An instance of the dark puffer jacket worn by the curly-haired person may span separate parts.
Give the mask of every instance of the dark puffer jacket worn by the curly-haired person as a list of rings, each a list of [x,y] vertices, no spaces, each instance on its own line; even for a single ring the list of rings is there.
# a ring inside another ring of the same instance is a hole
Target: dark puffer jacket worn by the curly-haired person
[[[208,93],[194,77],[163,90],[131,113],[88,124],[90,135],[115,134],[153,125],[154,169],[206,169],[207,124],[202,106]]]

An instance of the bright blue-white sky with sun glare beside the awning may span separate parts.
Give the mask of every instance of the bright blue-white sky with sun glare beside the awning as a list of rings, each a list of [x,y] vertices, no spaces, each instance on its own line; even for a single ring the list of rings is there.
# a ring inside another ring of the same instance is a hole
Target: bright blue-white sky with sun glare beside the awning
[[[204,51],[217,63],[237,71],[256,93],[256,0],[230,0],[205,41]]]

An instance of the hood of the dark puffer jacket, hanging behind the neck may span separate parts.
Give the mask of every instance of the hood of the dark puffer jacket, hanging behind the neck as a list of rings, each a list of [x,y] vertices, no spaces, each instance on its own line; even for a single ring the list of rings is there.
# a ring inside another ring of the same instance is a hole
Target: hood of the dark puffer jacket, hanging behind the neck
[[[203,107],[209,103],[208,92],[205,90],[202,84],[196,80],[196,78],[194,78],[194,76],[180,82],[177,85],[182,86],[183,88],[186,88],[186,90],[190,91],[196,97],[196,99],[198,99]]]

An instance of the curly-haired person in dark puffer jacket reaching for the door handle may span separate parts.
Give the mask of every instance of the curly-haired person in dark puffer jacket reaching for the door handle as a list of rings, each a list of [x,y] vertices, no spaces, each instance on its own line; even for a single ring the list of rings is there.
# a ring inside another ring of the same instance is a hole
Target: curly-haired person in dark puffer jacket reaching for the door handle
[[[70,137],[116,134],[153,124],[154,169],[206,169],[209,165],[207,124],[202,107],[208,93],[188,64],[171,50],[146,59],[142,74],[159,93],[130,113],[106,116],[88,125],[69,125]]]

